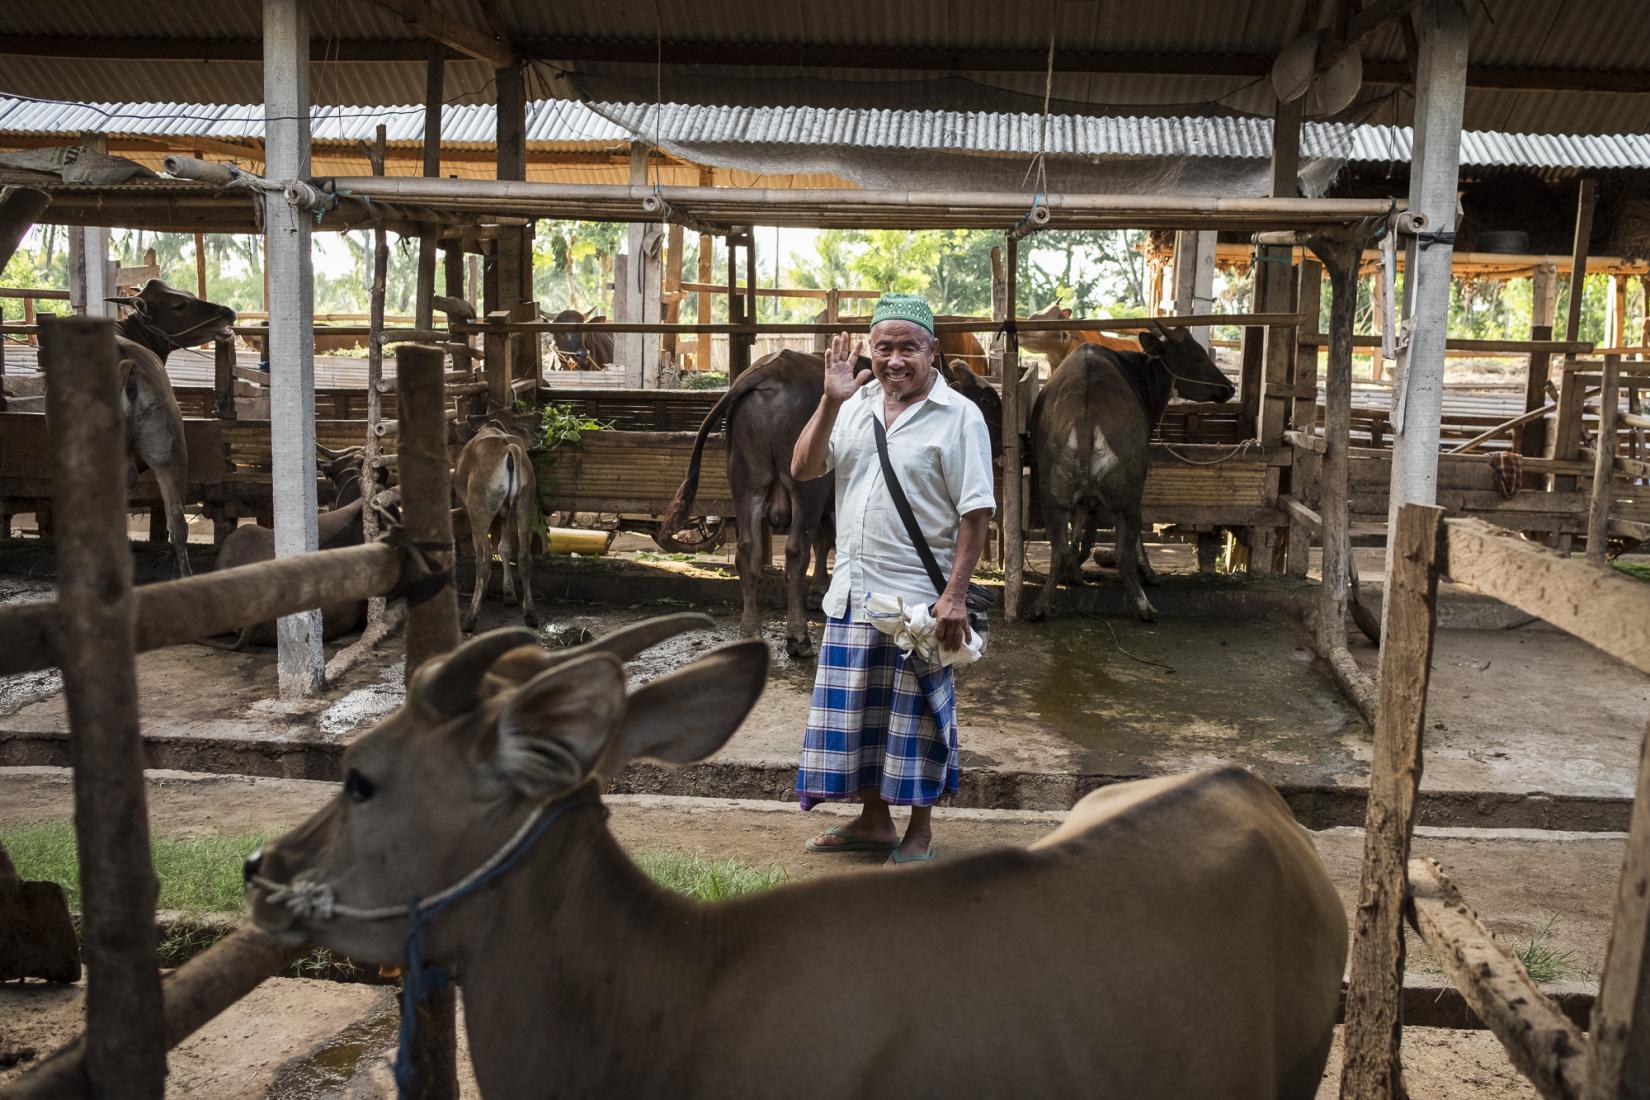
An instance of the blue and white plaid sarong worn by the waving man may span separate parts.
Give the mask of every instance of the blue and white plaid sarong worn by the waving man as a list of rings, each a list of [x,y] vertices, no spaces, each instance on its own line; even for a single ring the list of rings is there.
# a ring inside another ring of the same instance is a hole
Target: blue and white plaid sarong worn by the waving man
[[[827,620],[797,769],[802,808],[865,788],[896,806],[931,806],[959,778],[950,670],[901,656],[871,623]]]

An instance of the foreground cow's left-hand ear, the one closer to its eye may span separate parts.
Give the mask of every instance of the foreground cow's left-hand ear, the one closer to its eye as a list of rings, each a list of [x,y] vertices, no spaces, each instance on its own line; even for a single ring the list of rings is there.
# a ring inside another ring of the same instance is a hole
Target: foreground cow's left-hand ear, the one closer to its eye
[[[554,798],[596,770],[624,714],[624,666],[609,653],[556,665],[505,701],[490,765],[526,798]]]

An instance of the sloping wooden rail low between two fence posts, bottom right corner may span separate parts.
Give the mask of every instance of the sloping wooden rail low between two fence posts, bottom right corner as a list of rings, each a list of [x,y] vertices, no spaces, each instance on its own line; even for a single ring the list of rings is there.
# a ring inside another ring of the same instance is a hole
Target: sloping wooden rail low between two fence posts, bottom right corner
[[[1485,1027],[1506,1047],[1513,1067],[1543,1097],[1579,1100],[1587,1039],[1548,998],[1518,957],[1483,927],[1460,891],[1432,859],[1409,861],[1416,930],[1444,975]]]

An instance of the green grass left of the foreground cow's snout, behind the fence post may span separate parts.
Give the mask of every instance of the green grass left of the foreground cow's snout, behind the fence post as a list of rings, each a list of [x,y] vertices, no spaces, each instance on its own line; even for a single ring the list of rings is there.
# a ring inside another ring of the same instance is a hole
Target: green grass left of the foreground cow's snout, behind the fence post
[[[160,909],[231,912],[241,909],[241,861],[267,838],[155,836],[150,849],[160,879]],[[81,877],[71,821],[41,821],[0,831],[0,843],[25,879],[63,886],[69,909],[79,909]]]

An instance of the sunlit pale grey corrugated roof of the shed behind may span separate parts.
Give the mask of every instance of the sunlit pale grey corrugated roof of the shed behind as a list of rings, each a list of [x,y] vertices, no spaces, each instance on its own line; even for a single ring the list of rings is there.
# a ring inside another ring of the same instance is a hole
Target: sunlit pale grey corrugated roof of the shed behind
[[[655,114],[658,122],[655,125]],[[490,104],[442,110],[442,143],[490,147]],[[391,142],[421,142],[424,109],[315,107],[317,142],[370,140],[386,125]],[[526,139],[536,147],[589,148],[644,140],[695,145],[799,145],[1031,155],[1041,115],[982,110],[876,110],[830,107],[700,107],[665,104],[530,104]],[[261,139],[262,107],[198,104],[43,104],[0,97],[0,134],[69,137],[102,132],[134,137]],[[1308,122],[1302,153],[1353,162],[1407,162],[1409,127]],[[1272,122],[1252,117],[1051,115],[1046,148],[1056,157],[1266,158]],[[1516,168],[1650,168],[1650,134],[1544,135],[1462,134],[1462,165]]]

